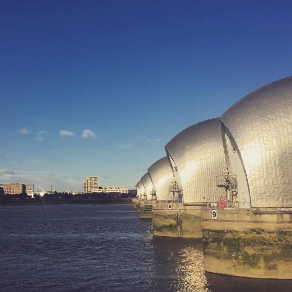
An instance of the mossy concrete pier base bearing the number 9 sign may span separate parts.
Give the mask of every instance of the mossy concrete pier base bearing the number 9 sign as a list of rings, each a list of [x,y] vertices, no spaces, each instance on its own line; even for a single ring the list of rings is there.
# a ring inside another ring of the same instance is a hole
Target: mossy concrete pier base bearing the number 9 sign
[[[212,207],[201,218],[205,271],[292,279],[292,209]]]

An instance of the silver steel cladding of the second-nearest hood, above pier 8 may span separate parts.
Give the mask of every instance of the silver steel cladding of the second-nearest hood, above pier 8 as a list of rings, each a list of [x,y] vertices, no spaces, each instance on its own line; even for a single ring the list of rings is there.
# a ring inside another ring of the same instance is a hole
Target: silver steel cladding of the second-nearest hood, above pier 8
[[[218,201],[216,176],[226,169],[219,118],[184,129],[165,146],[181,178],[184,202]]]

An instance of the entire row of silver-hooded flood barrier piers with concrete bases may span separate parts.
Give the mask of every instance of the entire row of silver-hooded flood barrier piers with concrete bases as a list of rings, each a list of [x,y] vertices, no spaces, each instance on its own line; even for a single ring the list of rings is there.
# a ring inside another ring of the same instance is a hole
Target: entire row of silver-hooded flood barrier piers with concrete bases
[[[153,236],[202,238],[207,272],[292,279],[292,77],[182,130],[136,184]]]

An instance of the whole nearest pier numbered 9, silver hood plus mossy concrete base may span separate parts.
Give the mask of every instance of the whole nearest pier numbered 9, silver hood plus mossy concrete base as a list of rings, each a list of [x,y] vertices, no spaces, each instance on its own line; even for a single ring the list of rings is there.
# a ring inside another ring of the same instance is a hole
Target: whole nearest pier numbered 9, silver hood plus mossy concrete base
[[[292,77],[246,95],[221,116],[226,207],[201,210],[208,272],[292,278]],[[224,205],[224,204],[223,204]]]

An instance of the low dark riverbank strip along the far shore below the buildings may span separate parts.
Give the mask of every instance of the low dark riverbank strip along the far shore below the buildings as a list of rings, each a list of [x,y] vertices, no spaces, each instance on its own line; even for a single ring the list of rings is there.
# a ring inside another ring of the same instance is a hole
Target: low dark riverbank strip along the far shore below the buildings
[[[131,204],[132,199],[14,199],[0,200],[0,206],[42,204]]]

